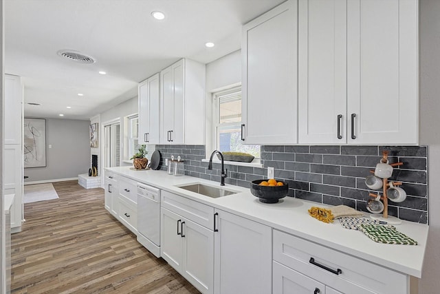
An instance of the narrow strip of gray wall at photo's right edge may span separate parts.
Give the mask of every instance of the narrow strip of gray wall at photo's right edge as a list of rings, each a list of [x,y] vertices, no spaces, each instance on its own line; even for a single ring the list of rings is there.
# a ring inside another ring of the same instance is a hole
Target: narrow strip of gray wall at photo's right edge
[[[419,293],[440,288],[440,1],[419,1],[420,143],[429,145],[429,235]]]

